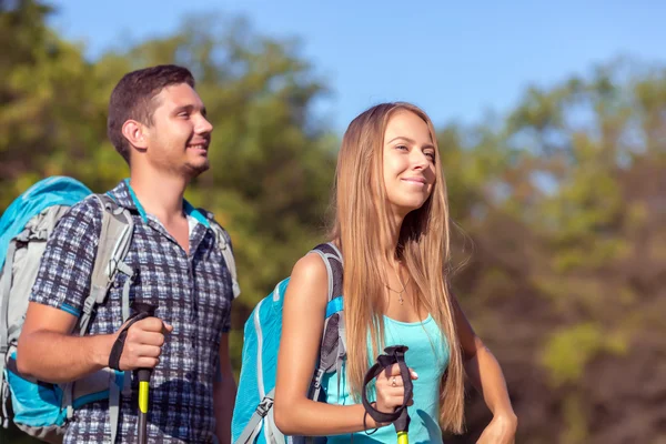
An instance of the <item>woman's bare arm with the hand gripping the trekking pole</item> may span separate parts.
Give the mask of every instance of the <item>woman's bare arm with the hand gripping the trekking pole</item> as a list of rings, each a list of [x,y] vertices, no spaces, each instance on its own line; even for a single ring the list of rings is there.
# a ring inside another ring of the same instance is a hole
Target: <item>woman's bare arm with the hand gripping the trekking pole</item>
[[[309,254],[295,264],[284,295],[273,408],[278,428],[287,435],[337,435],[365,430],[363,404],[341,406],[307,398],[324,329],[326,300],[326,268],[319,255]],[[376,408],[382,412],[392,412],[403,401],[403,389],[391,387],[389,377],[382,373],[376,382]],[[370,415],[366,427],[377,427]]]

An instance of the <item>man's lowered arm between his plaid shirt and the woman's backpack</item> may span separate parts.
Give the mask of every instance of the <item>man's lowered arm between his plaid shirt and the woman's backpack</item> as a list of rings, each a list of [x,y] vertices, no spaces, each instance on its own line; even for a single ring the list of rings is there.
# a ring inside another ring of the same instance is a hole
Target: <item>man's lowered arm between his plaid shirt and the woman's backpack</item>
[[[213,383],[215,406],[215,434],[220,444],[231,444],[231,416],[235,403],[236,384],[229,359],[229,333],[222,333],[220,341],[220,369]]]

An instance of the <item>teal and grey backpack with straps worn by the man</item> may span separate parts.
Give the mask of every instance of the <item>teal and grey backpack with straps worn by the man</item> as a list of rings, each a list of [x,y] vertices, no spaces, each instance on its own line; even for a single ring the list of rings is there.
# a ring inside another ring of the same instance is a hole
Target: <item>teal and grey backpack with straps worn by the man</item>
[[[91,194],[74,179],[48,178],[17,198],[0,219],[0,421],[8,427],[12,420],[23,432],[50,443],[62,442],[67,420],[75,408],[100,400],[109,400],[111,443],[114,443],[121,394],[130,391],[128,372],[107,367],[60,385],[26,377],[16,363],[18,339],[47,240],[70,206]],[[80,335],[88,334],[95,306],[104,302],[118,273],[128,275],[122,291],[123,322],[129,317],[134,274],[123,262],[134,228],[131,214],[109,195],[93,195],[102,209],[102,228],[90,294],[75,327]],[[240,289],[229,239],[218,224],[211,226],[231,272],[235,297]]]

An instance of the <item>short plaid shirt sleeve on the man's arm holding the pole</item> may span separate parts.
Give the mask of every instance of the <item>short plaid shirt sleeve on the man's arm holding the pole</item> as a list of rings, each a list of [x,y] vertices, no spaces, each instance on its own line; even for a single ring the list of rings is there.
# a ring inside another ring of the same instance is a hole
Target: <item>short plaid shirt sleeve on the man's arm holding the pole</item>
[[[79,316],[94,266],[101,230],[101,208],[91,198],[73,205],[47,241],[31,302]]]

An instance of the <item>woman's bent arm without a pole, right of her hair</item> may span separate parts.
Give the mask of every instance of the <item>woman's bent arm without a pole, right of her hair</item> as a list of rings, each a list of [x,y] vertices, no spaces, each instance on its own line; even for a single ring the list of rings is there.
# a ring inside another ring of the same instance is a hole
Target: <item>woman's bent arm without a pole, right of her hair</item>
[[[513,442],[517,427],[517,417],[508,398],[506,381],[500,367],[500,363],[491,353],[483,341],[474,333],[470,321],[463,313],[457,300],[453,297],[456,329],[463,349],[465,372],[474,387],[483,395],[483,398],[493,413],[493,422],[484,432],[492,433],[495,440],[492,442]],[[502,440],[506,436],[505,440]],[[483,441],[483,435],[482,440]]]

